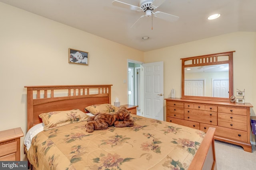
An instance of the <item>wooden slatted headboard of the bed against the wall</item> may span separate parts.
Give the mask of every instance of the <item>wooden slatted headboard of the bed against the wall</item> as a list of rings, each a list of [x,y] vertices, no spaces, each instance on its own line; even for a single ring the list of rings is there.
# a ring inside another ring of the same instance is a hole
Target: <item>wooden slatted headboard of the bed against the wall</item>
[[[111,86],[25,86],[27,88],[27,130],[42,122],[38,116],[41,113],[70,109],[84,111],[84,107],[92,104],[111,104]]]

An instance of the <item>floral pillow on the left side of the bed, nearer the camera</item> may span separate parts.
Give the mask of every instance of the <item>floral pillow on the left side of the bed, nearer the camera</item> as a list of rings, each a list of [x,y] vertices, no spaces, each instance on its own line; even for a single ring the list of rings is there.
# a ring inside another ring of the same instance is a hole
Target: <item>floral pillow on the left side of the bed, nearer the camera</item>
[[[88,115],[79,109],[67,111],[50,111],[39,115],[44,123],[44,131],[54,129],[70,123],[86,121]]]

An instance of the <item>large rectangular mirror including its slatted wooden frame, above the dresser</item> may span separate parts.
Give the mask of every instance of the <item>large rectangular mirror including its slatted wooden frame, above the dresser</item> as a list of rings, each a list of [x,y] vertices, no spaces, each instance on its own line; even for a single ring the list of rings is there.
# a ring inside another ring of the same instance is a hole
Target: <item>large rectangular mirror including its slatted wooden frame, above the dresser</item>
[[[182,98],[230,101],[233,52],[182,59]]]

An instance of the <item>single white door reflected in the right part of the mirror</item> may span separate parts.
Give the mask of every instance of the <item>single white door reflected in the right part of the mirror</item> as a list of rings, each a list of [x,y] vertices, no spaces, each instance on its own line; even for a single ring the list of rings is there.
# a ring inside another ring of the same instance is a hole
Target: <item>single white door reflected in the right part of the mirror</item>
[[[213,97],[228,98],[228,79],[213,79]]]

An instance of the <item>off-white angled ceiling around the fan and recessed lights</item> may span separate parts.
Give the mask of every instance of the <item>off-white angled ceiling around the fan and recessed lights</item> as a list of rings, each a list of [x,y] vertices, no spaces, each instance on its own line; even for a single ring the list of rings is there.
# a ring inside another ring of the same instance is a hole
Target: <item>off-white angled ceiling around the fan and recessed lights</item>
[[[0,0],[138,49],[151,51],[235,31],[256,32],[256,0],[165,0],[156,11],[179,16],[175,22],[112,5],[113,0]],[[140,0],[119,0],[139,6]],[[219,13],[216,20],[207,20]],[[149,37],[144,40],[142,37]]]

